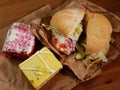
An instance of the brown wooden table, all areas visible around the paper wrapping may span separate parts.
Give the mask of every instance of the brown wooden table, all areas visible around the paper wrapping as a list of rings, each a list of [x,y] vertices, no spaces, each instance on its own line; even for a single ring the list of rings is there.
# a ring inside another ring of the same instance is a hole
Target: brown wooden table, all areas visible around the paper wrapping
[[[50,3],[52,8],[55,8],[63,1],[64,0],[0,0],[0,28],[4,28],[47,3]],[[89,1],[102,6],[120,17],[119,0]],[[105,66],[103,73],[99,77],[81,83],[73,90],[120,90],[120,58]]]

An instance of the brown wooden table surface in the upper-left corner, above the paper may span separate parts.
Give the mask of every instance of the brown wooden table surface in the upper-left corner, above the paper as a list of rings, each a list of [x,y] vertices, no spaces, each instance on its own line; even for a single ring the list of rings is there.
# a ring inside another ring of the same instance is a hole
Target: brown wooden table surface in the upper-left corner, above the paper
[[[60,5],[64,0],[0,0],[0,28],[9,25],[17,19],[51,4],[52,8]]]

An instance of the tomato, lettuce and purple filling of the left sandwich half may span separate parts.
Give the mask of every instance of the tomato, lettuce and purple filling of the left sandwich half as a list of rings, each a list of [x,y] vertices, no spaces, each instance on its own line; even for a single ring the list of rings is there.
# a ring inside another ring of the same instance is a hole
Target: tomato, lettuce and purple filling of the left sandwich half
[[[52,30],[52,44],[61,53],[69,55],[75,51],[76,42],[82,33],[82,24],[77,25],[75,30],[70,32],[68,37],[64,37],[58,30],[52,26],[42,24],[47,30]]]

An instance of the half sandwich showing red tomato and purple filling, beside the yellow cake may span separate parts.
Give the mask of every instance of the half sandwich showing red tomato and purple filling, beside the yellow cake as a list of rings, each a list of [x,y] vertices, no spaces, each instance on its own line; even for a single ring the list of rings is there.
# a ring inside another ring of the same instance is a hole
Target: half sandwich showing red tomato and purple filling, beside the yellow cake
[[[52,30],[52,45],[60,53],[69,55],[75,51],[76,42],[82,32],[84,14],[84,9],[62,9],[52,16],[50,26],[42,24]]]

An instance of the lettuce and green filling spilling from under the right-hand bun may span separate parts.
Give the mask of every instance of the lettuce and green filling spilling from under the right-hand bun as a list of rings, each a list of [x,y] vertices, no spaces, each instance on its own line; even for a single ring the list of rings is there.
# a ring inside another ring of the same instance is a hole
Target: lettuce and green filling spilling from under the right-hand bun
[[[76,60],[82,60],[83,63],[87,66],[87,68],[92,67],[95,63],[98,62],[107,62],[108,59],[105,56],[109,50],[109,47],[104,48],[101,51],[98,52],[86,52],[85,49],[85,44],[86,40],[84,40],[83,42],[80,43],[80,45],[77,43],[76,44],[76,49],[77,49],[77,53],[76,53]]]

